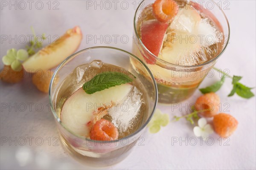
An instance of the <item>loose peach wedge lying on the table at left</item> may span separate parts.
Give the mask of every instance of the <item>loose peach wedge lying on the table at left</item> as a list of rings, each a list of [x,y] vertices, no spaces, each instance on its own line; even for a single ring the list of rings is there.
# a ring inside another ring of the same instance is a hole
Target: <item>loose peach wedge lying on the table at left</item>
[[[54,68],[77,50],[81,40],[82,33],[79,26],[67,30],[58,40],[23,62],[24,70],[34,73],[37,69],[48,70]]]

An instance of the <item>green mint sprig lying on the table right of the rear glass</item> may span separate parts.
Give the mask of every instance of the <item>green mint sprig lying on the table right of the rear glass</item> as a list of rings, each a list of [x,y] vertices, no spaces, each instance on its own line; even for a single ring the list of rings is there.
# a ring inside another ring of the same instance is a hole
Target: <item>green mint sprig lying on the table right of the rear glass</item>
[[[239,80],[241,80],[241,78],[242,78],[241,76],[231,77],[218,68],[213,68],[213,69],[221,72],[221,74],[224,74],[224,75],[221,77],[220,81],[215,82],[213,85],[210,85],[206,88],[199,89],[203,94],[218,91],[221,88],[221,86],[223,85],[225,77],[228,77],[228,78],[232,78],[232,84],[233,84],[233,89],[228,96],[233,96],[234,94],[237,94],[238,96],[245,98],[245,99],[250,99],[251,97],[254,96],[253,92],[251,91],[251,89],[253,89],[253,88],[249,88],[246,85],[243,85],[239,82]]]

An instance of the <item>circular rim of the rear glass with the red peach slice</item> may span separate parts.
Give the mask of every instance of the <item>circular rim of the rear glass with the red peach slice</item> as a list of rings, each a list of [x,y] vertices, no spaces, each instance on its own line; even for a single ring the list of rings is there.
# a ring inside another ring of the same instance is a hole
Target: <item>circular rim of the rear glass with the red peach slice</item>
[[[140,10],[140,7],[143,6],[143,3],[144,1],[146,0],[142,0],[139,4],[139,6],[137,7],[136,11],[135,11],[135,14],[134,14],[134,32],[136,34],[136,37],[138,38],[139,42],[140,42],[140,45],[142,45],[143,49],[145,49],[154,59],[156,59],[157,61],[160,61],[160,62],[163,62],[164,64],[166,65],[169,65],[169,66],[173,66],[173,67],[180,67],[180,68],[197,68],[197,67],[202,67],[204,65],[207,65],[213,61],[215,61],[216,59],[218,59],[223,53],[224,51],[226,50],[227,48],[227,45],[229,43],[229,40],[230,40],[230,26],[229,26],[229,22],[227,20],[227,16],[225,15],[224,11],[222,9],[219,8],[219,10],[221,11],[221,13],[223,14],[225,20],[226,20],[226,24],[227,24],[227,32],[228,32],[228,36],[227,36],[227,42],[226,44],[224,45],[223,49],[221,50],[221,52],[216,56],[214,57],[213,59],[210,59],[209,61],[207,62],[204,62],[202,64],[199,64],[199,65],[176,65],[176,64],[173,64],[171,62],[167,62],[163,59],[160,59],[158,58],[157,56],[155,56],[153,53],[151,53],[151,51],[148,50],[148,48],[145,47],[145,45],[143,44],[143,42],[141,41],[140,39],[140,36],[139,34],[137,33],[137,29],[136,29],[136,17],[137,17],[137,13],[138,11]],[[212,1],[215,5],[218,5],[217,3],[215,3],[213,0],[210,0]]]

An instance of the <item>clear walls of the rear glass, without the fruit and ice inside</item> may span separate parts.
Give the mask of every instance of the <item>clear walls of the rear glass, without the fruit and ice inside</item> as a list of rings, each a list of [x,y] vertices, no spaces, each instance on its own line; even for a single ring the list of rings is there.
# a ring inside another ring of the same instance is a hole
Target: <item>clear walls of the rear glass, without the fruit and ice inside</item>
[[[200,83],[206,77],[208,71],[213,68],[217,59],[223,54],[227,48],[227,44],[230,38],[230,28],[227,21],[227,17],[224,12],[212,0],[193,0],[191,5],[197,3],[197,8],[202,9],[203,12],[207,12],[210,19],[214,20],[218,24],[220,31],[223,33],[221,37],[221,48],[218,50],[218,55],[207,62],[199,65],[175,65],[170,62],[164,61],[152,54],[143,44],[140,37],[140,24],[143,18],[148,16],[142,16],[143,9],[149,4],[154,3],[155,0],[143,0],[138,6],[134,15],[134,43],[132,53],[139,57],[148,68],[151,70],[158,89],[158,102],[163,104],[172,104],[175,102],[181,102],[188,99]],[[181,1],[181,0],[180,0]],[[184,1],[185,2],[185,1]],[[202,3],[203,2],[203,3]],[[147,63],[144,59],[154,61],[152,64]],[[172,56],[170,56],[172,57]],[[135,63],[136,65],[136,63]]]

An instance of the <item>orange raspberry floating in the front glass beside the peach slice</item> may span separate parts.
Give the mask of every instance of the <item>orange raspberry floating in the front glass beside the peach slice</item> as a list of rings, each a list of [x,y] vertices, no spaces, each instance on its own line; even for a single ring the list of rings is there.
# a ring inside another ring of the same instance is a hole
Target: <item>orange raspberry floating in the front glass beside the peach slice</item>
[[[118,129],[106,119],[97,121],[90,131],[90,139],[99,141],[111,141],[118,138]]]

